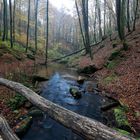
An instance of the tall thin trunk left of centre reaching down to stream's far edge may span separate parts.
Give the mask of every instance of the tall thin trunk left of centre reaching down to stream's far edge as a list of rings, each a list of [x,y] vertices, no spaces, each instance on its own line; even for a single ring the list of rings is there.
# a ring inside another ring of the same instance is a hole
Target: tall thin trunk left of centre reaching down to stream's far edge
[[[46,60],[45,65],[48,65],[48,35],[49,35],[49,0],[46,2]]]

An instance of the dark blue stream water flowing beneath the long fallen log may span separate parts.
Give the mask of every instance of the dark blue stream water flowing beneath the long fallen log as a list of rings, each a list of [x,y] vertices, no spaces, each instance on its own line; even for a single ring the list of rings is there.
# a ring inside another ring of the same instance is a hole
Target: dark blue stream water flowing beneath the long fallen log
[[[83,116],[105,123],[104,114],[100,110],[100,107],[106,99],[96,92],[89,92],[87,90],[89,86],[95,88],[96,82],[85,81],[84,84],[80,85],[76,81],[78,75],[74,70],[62,69],[55,67],[54,70],[50,70],[50,80],[42,84],[41,96]],[[41,69],[41,73],[43,72],[48,73],[45,68]],[[82,98],[74,99],[69,92],[71,87],[78,88],[82,93]],[[43,117],[33,118],[31,128],[22,140],[84,139],[44,113]]]

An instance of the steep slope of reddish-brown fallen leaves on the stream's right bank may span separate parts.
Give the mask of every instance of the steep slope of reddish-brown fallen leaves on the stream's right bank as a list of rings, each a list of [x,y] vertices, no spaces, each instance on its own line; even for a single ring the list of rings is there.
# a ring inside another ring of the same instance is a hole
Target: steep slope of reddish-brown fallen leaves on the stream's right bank
[[[78,67],[96,66],[97,72],[90,74],[91,78],[98,80],[101,90],[129,108],[128,120],[136,133],[140,133],[140,27],[126,37],[129,46],[127,51],[119,40],[110,41],[109,38],[93,48],[93,52],[103,45],[94,54],[91,61],[88,56],[78,60]],[[116,45],[115,48],[112,46]]]

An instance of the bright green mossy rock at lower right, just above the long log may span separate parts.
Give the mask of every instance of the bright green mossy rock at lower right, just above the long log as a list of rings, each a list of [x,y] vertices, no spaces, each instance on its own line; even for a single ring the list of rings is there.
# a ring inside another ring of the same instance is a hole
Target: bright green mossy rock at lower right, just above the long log
[[[119,129],[126,130],[128,132],[132,132],[131,126],[128,122],[128,119],[126,117],[126,114],[125,114],[123,108],[121,108],[121,107],[115,108],[114,115],[115,115],[117,127]]]

